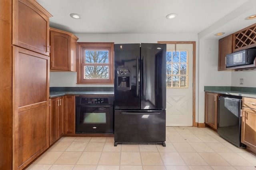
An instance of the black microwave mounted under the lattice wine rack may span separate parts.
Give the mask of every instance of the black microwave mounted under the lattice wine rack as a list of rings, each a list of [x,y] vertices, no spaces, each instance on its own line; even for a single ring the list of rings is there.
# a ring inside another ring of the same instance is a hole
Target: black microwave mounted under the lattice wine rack
[[[256,57],[256,49],[244,49],[226,56],[226,67],[253,64]]]

